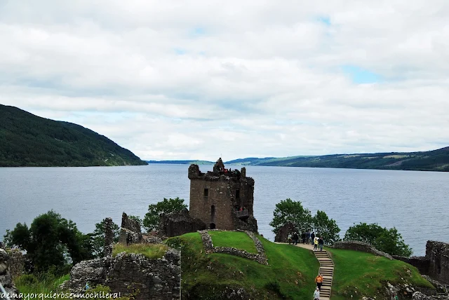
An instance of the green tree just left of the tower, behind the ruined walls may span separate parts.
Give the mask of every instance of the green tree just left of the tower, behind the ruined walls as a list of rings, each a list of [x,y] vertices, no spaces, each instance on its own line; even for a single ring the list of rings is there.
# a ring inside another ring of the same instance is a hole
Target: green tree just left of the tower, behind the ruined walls
[[[184,199],[176,197],[174,199],[163,198],[163,201],[148,206],[148,212],[143,219],[143,226],[147,231],[152,231],[159,226],[159,215],[169,214],[170,212],[180,212],[187,205],[184,204]]]

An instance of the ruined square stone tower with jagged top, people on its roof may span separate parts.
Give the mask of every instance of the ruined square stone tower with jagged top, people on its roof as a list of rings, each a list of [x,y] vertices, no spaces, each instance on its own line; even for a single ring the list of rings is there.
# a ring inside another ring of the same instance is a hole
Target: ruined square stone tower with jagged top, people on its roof
[[[199,166],[189,167],[190,216],[201,219],[208,229],[257,232],[253,216],[254,179],[246,169],[226,169],[221,158],[213,172],[203,173]]]

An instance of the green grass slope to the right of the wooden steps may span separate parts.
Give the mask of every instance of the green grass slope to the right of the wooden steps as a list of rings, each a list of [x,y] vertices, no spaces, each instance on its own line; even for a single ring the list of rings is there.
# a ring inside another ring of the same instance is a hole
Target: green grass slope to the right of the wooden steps
[[[327,248],[335,264],[332,299],[361,299],[375,296],[382,282],[413,283],[422,287],[432,285],[422,278],[417,268],[403,261],[389,260],[366,252]],[[401,280],[404,278],[404,280]]]

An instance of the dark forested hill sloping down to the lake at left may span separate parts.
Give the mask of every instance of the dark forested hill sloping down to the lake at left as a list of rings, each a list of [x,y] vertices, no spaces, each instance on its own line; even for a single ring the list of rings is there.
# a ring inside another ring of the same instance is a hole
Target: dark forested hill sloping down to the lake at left
[[[131,151],[81,125],[0,104],[0,167],[147,165]]]

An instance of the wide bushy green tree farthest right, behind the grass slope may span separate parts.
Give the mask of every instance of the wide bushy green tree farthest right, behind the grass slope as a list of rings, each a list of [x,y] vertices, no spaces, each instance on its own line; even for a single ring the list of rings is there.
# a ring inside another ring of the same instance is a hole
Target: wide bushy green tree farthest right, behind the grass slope
[[[360,240],[361,242],[373,245],[377,250],[392,255],[410,257],[413,253],[412,249],[404,242],[401,233],[398,233],[395,227],[387,229],[375,223],[354,224],[344,234],[344,240]]]

